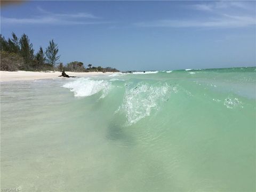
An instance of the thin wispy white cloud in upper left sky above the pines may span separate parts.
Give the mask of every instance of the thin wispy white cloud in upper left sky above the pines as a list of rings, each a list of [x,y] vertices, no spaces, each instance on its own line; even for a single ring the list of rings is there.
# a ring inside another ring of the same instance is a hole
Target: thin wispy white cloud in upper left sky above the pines
[[[100,24],[108,23],[95,19],[99,19],[91,13],[52,13],[37,7],[39,15],[33,18],[7,18],[1,17],[1,22],[8,24],[49,24],[49,25],[90,25],[90,24]]]

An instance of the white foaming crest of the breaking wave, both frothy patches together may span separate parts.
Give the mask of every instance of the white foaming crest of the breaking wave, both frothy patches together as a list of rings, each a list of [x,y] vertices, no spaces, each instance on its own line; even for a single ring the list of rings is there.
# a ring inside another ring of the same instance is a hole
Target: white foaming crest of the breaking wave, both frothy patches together
[[[115,83],[121,83],[122,86]],[[75,97],[89,97],[100,92],[100,99],[105,98],[111,88],[113,90],[116,88],[115,91],[117,91],[117,88],[124,87],[123,101],[117,111],[125,114],[126,125],[131,125],[149,116],[153,109],[159,109],[159,106],[169,100],[172,93],[178,92],[177,86],[170,85],[167,82],[150,84],[148,82],[134,83],[130,81],[125,83],[123,79],[116,78],[109,80],[81,78],[66,83],[63,87],[74,92]]]

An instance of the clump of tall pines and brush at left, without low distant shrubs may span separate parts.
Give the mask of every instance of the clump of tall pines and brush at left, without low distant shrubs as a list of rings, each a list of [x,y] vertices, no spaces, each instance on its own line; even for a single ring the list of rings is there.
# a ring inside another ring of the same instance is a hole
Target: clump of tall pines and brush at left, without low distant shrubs
[[[53,39],[45,52],[41,46],[36,54],[26,34],[18,38],[12,33],[8,39],[0,35],[0,39],[1,70],[52,70],[60,58],[58,44]]]

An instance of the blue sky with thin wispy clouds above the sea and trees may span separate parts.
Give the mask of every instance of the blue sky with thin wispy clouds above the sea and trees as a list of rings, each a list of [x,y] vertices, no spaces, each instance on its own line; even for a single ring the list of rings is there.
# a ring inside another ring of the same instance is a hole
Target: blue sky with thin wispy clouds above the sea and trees
[[[1,6],[1,34],[51,39],[60,62],[119,70],[256,66],[255,1],[25,1]]]

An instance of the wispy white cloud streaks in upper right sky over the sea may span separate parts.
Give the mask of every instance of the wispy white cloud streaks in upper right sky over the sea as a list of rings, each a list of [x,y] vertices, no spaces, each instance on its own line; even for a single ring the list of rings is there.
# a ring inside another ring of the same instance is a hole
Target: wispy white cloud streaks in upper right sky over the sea
[[[162,19],[154,21],[142,21],[134,23],[140,27],[208,27],[208,28],[236,28],[256,25],[255,10],[251,9],[250,4],[243,2],[210,2],[207,4],[194,4],[190,9],[205,11],[202,19]],[[230,7],[231,14],[229,13]],[[242,10],[242,11],[241,11]],[[234,14],[235,12],[235,14]],[[237,14],[239,12],[239,14]]]

